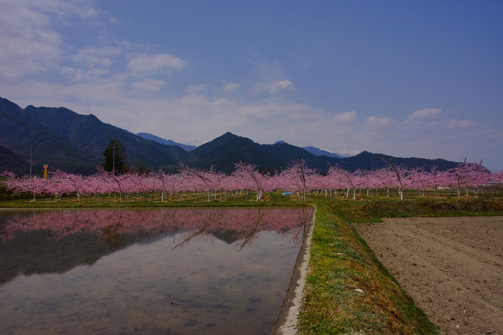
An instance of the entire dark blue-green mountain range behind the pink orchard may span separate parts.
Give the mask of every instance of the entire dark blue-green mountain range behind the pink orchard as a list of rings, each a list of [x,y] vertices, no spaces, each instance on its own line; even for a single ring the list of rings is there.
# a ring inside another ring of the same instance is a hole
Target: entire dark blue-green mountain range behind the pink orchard
[[[14,102],[0,98],[0,171],[17,174],[30,172],[40,175],[43,165],[74,173],[90,174],[103,163],[103,152],[108,143],[120,140],[126,147],[128,165],[142,171],[162,168],[178,172],[182,163],[200,169],[231,172],[233,163],[245,162],[257,165],[263,172],[274,172],[302,158],[309,168],[324,173],[328,167],[339,165],[348,171],[378,169],[387,165],[384,154],[367,151],[352,157],[314,147],[296,147],[278,141],[275,144],[258,144],[231,133],[225,133],[213,141],[199,146],[184,145],[172,140],[139,133],[133,134],[96,116],[80,115],[65,107],[21,108]],[[396,165],[422,167],[432,165],[447,170],[457,162],[444,159],[390,157]]]

